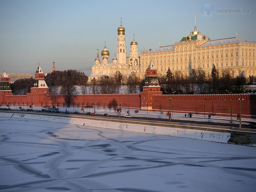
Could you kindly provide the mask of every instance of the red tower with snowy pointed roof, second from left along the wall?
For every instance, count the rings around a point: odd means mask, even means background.
[[[33,86],[30,88],[31,93],[45,93],[49,92],[49,88],[45,82],[44,72],[42,71],[39,63],[35,73],[35,81]]]

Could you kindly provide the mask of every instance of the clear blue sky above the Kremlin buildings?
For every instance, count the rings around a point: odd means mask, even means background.
[[[202,7],[212,12],[203,14]],[[45,73],[55,60],[57,70],[90,75],[104,41],[114,57],[120,17],[128,56],[133,34],[138,50],[155,49],[159,41],[173,45],[189,35],[195,9],[202,35],[228,38],[237,30],[238,38],[256,41],[255,1],[0,0],[0,73],[35,73],[38,63]]]

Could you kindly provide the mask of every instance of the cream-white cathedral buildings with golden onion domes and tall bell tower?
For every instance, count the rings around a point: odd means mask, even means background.
[[[89,81],[98,80],[101,77],[110,77],[111,75],[118,74],[129,76],[132,73],[140,72],[140,62],[138,57],[138,43],[134,40],[131,42],[130,57],[126,57],[126,45],[125,45],[125,28],[121,25],[117,29],[118,39],[116,46],[116,57],[110,62],[110,54],[106,48],[101,51],[101,58],[99,57],[99,49],[97,58],[92,66],[92,73],[89,76]]]

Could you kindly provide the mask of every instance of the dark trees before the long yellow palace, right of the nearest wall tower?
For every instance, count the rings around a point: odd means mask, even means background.
[[[234,78],[231,70],[220,73],[215,66],[209,77],[202,69],[193,70],[187,78],[179,71],[173,74],[168,69],[166,75],[158,76],[158,80],[163,94],[240,94],[247,88],[243,73]]]

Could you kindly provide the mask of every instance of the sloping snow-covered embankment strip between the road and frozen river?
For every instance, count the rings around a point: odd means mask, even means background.
[[[23,119],[34,119],[42,121],[52,121],[58,123],[68,123],[92,127],[101,127],[106,129],[117,129],[117,130],[126,130],[134,131],[141,133],[153,133],[158,135],[168,135],[175,137],[184,137],[205,141],[214,141],[227,143],[230,139],[231,133],[215,132],[215,131],[203,131],[203,130],[194,130],[194,129],[182,129],[174,127],[162,127],[154,125],[143,125],[143,124],[133,124],[133,123],[122,123],[122,122],[110,122],[110,121],[101,121],[94,119],[84,119],[76,117],[67,117],[67,116],[48,116],[48,115],[38,115],[38,114],[26,114],[26,113],[0,113],[0,116],[3,117],[12,117],[12,118],[23,118]]]

